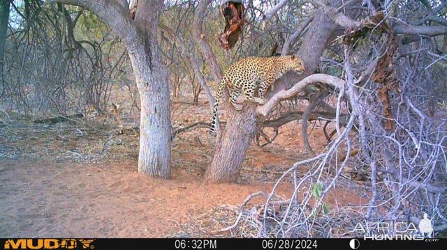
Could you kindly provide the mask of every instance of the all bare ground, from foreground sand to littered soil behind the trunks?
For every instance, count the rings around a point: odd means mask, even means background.
[[[173,124],[207,121],[204,99],[198,106],[175,102]],[[138,112],[122,107],[123,120],[135,121]],[[236,184],[203,183],[214,139],[200,129],[173,141],[173,179],[158,180],[136,171],[138,134],[117,134],[110,117],[94,119],[40,125],[17,116],[0,127],[0,237],[228,237],[216,231],[233,224],[237,214],[222,205],[269,193],[284,170],[309,157],[300,124],[293,122],[281,127],[274,143],[251,146]],[[323,150],[321,124],[310,130],[314,150]],[[278,194],[292,191],[286,183]],[[340,208],[367,201],[363,189],[349,182],[325,202]]]

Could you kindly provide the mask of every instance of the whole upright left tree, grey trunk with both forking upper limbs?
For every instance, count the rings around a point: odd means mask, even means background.
[[[134,21],[121,1],[56,1],[91,10],[124,42],[141,102],[138,172],[170,178],[170,95],[166,65],[161,62],[156,40],[163,1],[139,1]]]

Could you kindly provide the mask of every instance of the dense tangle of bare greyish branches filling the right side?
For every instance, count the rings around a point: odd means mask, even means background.
[[[421,2],[390,1],[383,11],[389,15],[388,20],[397,23],[420,25],[425,23],[420,19],[430,15],[445,20],[445,14],[433,14],[434,10],[430,13]],[[434,3],[433,9],[437,4],[444,5]],[[251,233],[255,237],[358,237],[362,236],[354,231],[358,222],[417,224],[417,218],[427,212],[435,232],[446,230],[445,36],[398,38],[400,46],[392,63],[386,65],[387,70],[394,68],[398,82],[397,88],[388,91],[395,123],[390,130],[379,92],[383,86],[374,81],[374,74],[365,72],[371,65],[379,70],[377,59],[390,48],[391,36],[372,31],[356,45],[335,45],[338,48],[334,51],[343,56],[334,64],[343,70],[340,77],[346,81],[344,89],[333,92],[338,96],[337,136],[323,152],[295,163],[277,180],[265,205],[257,210],[259,217],[242,208],[237,218],[239,226],[226,229],[240,236],[256,231]],[[344,102],[348,103],[349,118],[342,129],[339,114]],[[360,153],[352,154],[356,149]],[[307,166],[308,171],[299,172],[300,166]],[[366,170],[367,180],[362,185],[346,180],[353,178],[346,176],[352,166]],[[290,182],[294,192],[284,200],[286,205],[273,202],[277,187]],[[327,196],[335,189],[364,192],[367,202],[344,207],[328,205]]]

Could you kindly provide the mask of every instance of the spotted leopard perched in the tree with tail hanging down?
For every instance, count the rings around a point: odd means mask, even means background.
[[[228,88],[230,103],[233,104],[236,111],[242,109],[242,104],[237,103],[241,93],[244,93],[245,100],[263,105],[267,102],[267,99],[264,98],[265,93],[269,88],[274,90],[274,81],[291,70],[298,73],[305,71],[305,65],[299,56],[249,56],[230,65],[223,74],[217,90],[212,110],[210,134],[214,134],[216,130],[217,109],[223,88]],[[258,88],[258,97],[254,96],[256,88]]]

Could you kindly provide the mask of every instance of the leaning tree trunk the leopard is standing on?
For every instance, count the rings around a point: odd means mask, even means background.
[[[305,63],[306,71],[301,75],[288,74],[275,83],[275,92],[290,88],[291,82],[297,83],[307,75],[312,74],[320,62],[321,54],[328,44],[336,25],[323,11],[317,10],[309,32],[305,35],[298,56]],[[276,88],[276,86],[279,86]],[[234,182],[242,168],[250,142],[256,135],[256,104],[244,102],[242,111],[228,109],[228,120],[225,132],[222,132],[221,143],[214,150],[212,164],[205,173],[205,179],[210,182]]]

